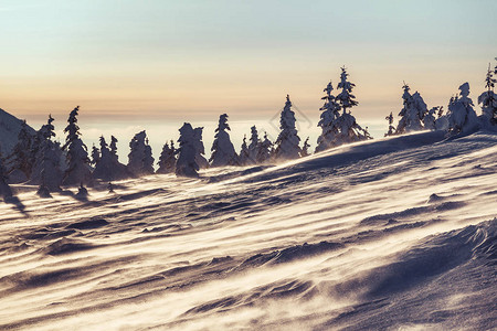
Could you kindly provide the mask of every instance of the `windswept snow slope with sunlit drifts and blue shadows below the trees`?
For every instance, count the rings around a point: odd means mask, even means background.
[[[84,199],[13,185],[0,329],[495,329],[497,136],[443,135]]]

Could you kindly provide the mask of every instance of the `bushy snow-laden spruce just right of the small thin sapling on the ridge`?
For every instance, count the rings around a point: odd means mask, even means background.
[[[402,86],[404,93],[402,94],[403,108],[399,113],[401,119],[396,127],[395,134],[403,135],[412,131],[419,131],[423,129],[423,117],[427,113],[426,104],[421,97],[419,92],[413,95],[410,94],[410,87],[408,84]]]

